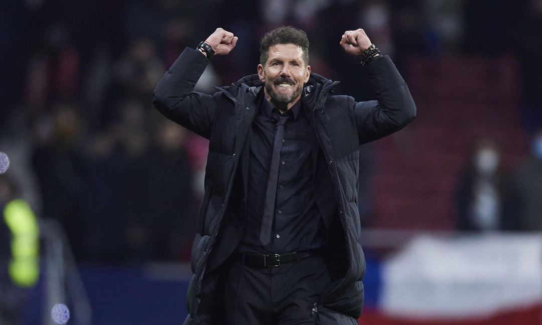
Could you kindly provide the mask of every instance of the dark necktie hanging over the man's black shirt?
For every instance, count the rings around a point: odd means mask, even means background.
[[[269,180],[267,181],[266,201],[263,205],[262,227],[260,229],[260,241],[266,246],[271,241],[271,228],[273,227],[273,216],[275,215],[276,186],[279,181],[279,160],[284,138],[284,124],[288,116],[273,113],[276,122],[275,139],[273,141],[273,154],[269,167]]]

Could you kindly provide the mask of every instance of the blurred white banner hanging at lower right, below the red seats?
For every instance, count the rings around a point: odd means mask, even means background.
[[[423,235],[384,263],[385,313],[484,316],[542,302],[542,234]]]

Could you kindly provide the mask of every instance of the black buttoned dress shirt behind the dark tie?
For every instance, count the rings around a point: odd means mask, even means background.
[[[276,127],[272,114],[278,110],[263,99],[263,95],[259,96],[257,109],[249,131],[246,228],[239,251],[281,254],[322,248],[321,216],[314,199],[315,155],[312,151],[316,139],[301,100],[286,113],[289,118],[280,154],[272,241],[265,247],[260,243]]]

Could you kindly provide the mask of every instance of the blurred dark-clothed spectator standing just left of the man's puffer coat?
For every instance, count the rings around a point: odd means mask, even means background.
[[[157,136],[145,158],[143,221],[156,260],[189,260],[195,230],[192,218],[192,172],[184,149],[186,131],[169,120],[157,126]]]

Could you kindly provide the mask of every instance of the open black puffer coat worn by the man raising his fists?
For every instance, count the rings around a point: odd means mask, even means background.
[[[187,298],[185,323],[193,324],[214,324],[220,319],[220,304],[214,298],[220,272],[213,271],[241,240],[242,218],[234,211],[242,206],[243,198],[232,195],[232,188],[234,183],[243,186],[247,177],[246,138],[256,111],[255,98],[263,86],[257,75],[252,75],[219,88],[214,95],[192,92],[207,63],[197,50],[185,49],[154,91],[154,105],[160,112],[210,140]],[[362,311],[365,272],[358,243],[358,149],[401,130],[416,116],[408,87],[388,56],[377,57],[364,69],[377,101],[356,102],[352,97],[333,95],[338,82],[315,73],[302,94],[321,149],[317,203],[332,234],[327,257],[334,281],[315,303],[356,318]]]

